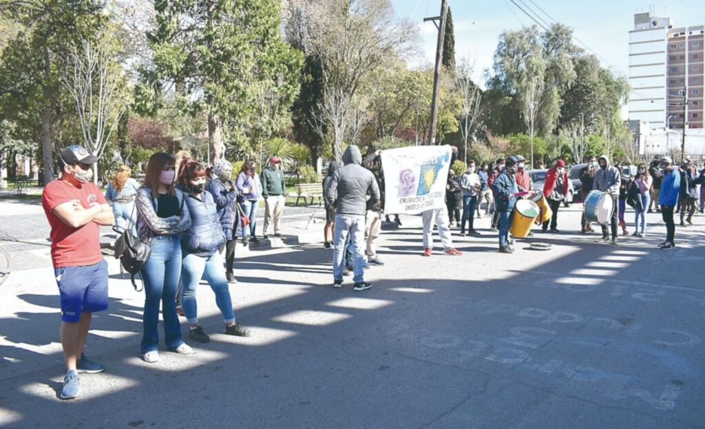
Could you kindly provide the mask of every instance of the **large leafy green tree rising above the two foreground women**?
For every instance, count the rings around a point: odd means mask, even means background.
[[[279,2],[155,0],[150,76],[204,111],[210,153],[223,156],[223,123],[261,138],[288,118],[302,58],[281,39]]]

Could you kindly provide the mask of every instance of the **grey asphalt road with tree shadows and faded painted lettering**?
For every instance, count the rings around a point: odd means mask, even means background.
[[[114,275],[87,347],[108,369],[82,375],[71,402],[56,397],[51,268],[21,273],[0,287],[0,426],[705,428],[705,217],[661,251],[661,224],[619,247],[568,232],[579,210],[512,255],[486,218],[482,237],[455,237],[460,257],[420,256],[418,228],[384,232],[386,265],[366,271],[365,292],[331,287],[321,247],[252,252],[231,287],[252,336],[216,333],[202,285],[212,342],[187,338],[194,354],[152,364],[139,356],[142,295]]]

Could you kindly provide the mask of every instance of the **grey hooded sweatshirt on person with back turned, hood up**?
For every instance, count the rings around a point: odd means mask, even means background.
[[[335,204],[336,214],[364,216],[367,195],[372,204],[379,201],[379,187],[372,171],[361,165],[362,154],[354,144],[345,149],[343,163],[345,166],[333,173],[325,191],[326,203]]]

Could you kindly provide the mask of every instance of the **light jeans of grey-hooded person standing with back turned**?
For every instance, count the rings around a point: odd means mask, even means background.
[[[362,243],[364,243],[364,215],[336,214],[336,229],[333,231],[333,279],[343,278],[343,263],[345,256],[345,242],[350,235],[348,249],[353,254],[353,274],[355,282],[362,282],[364,268],[362,263]]]

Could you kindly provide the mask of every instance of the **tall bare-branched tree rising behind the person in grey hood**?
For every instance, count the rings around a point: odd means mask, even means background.
[[[323,95],[312,125],[321,139],[331,135],[341,159],[367,121],[362,88],[372,71],[403,54],[416,27],[394,17],[389,0],[290,0],[287,37],[318,58]]]

